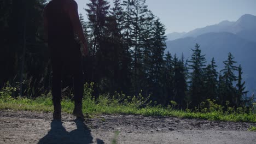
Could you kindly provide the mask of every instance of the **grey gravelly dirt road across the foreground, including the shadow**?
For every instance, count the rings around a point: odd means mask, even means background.
[[[84,122],[63,113],[0,110],[0,143],[256,143],[256,123],[100,115]]]

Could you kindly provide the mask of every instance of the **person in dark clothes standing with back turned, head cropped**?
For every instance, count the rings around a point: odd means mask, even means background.
[[[88,46],[79,20],[78,5],[74,0],[52,0],[43,11],[45,41],[50,49],[54,119],[61,119],[61,80],[65,74],[73,77],[73,115],[84,118],[82,112],[83,69],[80,45],[75,34],[82,41],[83,53],[88,55]]]

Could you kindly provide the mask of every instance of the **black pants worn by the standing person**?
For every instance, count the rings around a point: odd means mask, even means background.
[[[60,44],[60,43],[59,43]],[[82,102],[84,92],[82,56],[80,46],[76,43],[68,45],[49,45],[51,49],[51,65],[53,69],[52,89],[53,103],[60,103],[62,77],[69,75],[73,78],[74,98],[77,103]],[[57,49],[61,47],[62,49]]]

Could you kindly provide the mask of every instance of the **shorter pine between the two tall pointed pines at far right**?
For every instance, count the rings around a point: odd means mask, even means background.
[[[206,75],[205,75],[206,99],[216,100],[218,97],[218,94],[217,94],[218,72],[216,71],[216,67],[217,65],[215,65],[214,58],[212,58],[211,64],[208,64],[206,67]]]

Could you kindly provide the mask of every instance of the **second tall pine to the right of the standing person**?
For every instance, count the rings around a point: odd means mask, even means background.
[[[120,87],[123,92],[128,93],[129,89],[127,89],[127,87],[131,87],[131,53],[129,47],[126,45],[125,36],[123,34],[124,15],[125,11],[121,5],[121,1],[115,0],[114,7],[110,10],[109,31],[114,43],[118,44],[116,46],[119,67],[117,73],[117,87]]]

